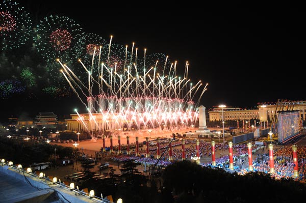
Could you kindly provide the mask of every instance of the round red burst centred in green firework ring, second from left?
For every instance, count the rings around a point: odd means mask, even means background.
[[[50,43],[57,51],[64,51],[70,47],[72,40],[71,34],[62,29],[53,31],[50,35]]]

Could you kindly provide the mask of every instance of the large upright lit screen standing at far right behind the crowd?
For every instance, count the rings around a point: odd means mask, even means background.
[[[284,142],[299,132],[299,111],[281,111],[278,113],[278,142]]]

